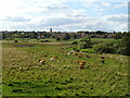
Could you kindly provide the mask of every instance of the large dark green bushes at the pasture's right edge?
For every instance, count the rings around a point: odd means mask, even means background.
[[[128,40],[128,39],[127,39]],[[122,42],[123,41],[123,42]],[[128,42],[128,41],[126,41]],[[93,47],[95,52],[105,52],[105,53],[118,53],[118,54],[126,54],[125,53],[125,39],[116,39],[116,40],[104,40],[104,42],[100,42],[98,45],[94,45]],[[126,51],[128,52],[128,50]]]

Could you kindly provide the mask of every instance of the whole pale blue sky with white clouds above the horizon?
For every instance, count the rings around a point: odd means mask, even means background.
[[[0,0],[0,30],[128,30],[128,0]]]

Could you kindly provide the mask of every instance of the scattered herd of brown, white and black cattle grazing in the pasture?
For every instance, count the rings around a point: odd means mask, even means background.
[[[86,54],[84,52],[77,52],[74,50],[72,50],[69,52],[65,52],[64,50],[62,50],[61,52],[63,53],[64,58],[68,58],[68,57],[70,58],[70,56],[78,57],[78,58],[80,58],[80,60],[84,57],[92,58],[92,56]],[[30,52],[30,54],[34,54],[34,52]],[[49,57],[50,53],[41,52],[40,54],[46,58],[46,57]],[[105,63],[104,56],[100,57],[100,59],[101,59],[101,63]],[[65,59],[65,60],[68,60],[68,59]],[[48,62],[55,62],[55,61],[64,61],[65,62],[65,60],[64,59],[60,60],[60,57],[54,56],[54,57],[49,57],[49,60],[38,60],[38,62],[39,62],[39,64],[47,64]],[[87,64],[87,61],[80,61],[80,60],[72,60],[72,62],[77,63],[78,64],[77,68],[83,70]],[[20,68],[20,70],[22,71],[23,69]]]

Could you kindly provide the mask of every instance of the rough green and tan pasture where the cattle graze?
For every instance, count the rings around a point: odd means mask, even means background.
[[[129,95],[128,57],[92,52],[68,56],[70,47],[62,42],[3,42],[2,95]],[[52,57],[56,57],[54,61],[50,60]],[[41,64],[39,60],[47,62]],[[78,68],[81,61],[87,62],[84,69]]]

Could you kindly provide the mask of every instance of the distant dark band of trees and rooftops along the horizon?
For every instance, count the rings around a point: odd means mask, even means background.
[[[76,33],[62,33],[62,32],[55,32],[55,33],[49,33],[49,32],[2,32],[2,38],[35,38],[35,39],[43,39],[43,38],[55,38],[56,40],[69,40],[69,39],[78,39],[81,38],[82,36],[90,35],[91,38],[116,38],[116,39],[121,39],[121,36],[126,34],[127,32],[102,32],[102,30],[96,30],[96,32],[83,32],[79,30]]]

